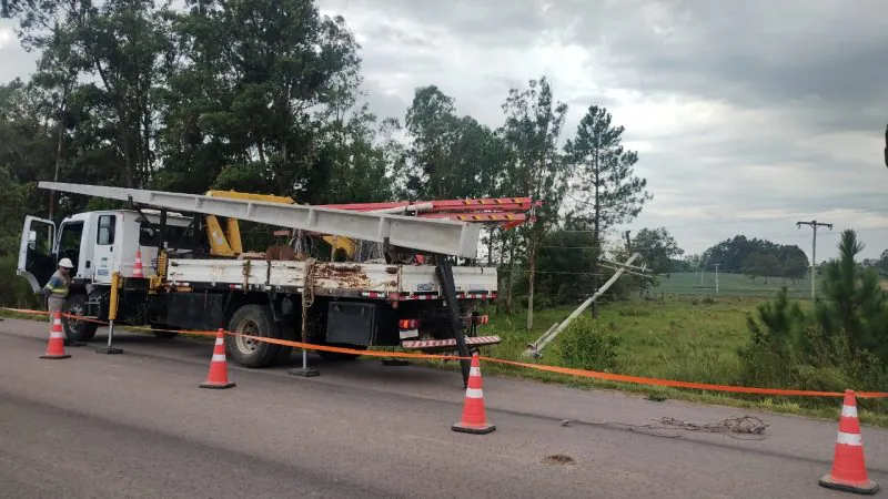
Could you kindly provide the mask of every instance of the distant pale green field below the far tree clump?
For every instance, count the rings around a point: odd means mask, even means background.
[[[659,285],[652,288],[653,294],[666,294],[677,296],[743,296],[743,297],[770,297],[780,286],[789,289],[789,296],[794,298],[807,298],[810,296],[810,278],[805,279],[784,279],[780,277],[756,277],[750,279],[741,274],[718,273],[718,292],[716,293],[715,272],[706,272],[700,276],[699,273],[687,272],[665,274],[658,276]]]

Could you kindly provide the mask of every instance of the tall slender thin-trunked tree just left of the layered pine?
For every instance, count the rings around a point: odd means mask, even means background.
[[[565,162],[558,152],[558,139],[567,114],[567,104],[553,101],[548,80],[543,77],[531,80],[524,90],[509,90],[503,111],[506,120],[501,133],[512,161],[509,179],[504,189],[534,200],[545,200],[537,212],[536,221],[517,233],[523,240],[527,261],[527,329],[531,329],[534,320],[537,252],[545,235],[558,223],[558,208],[566,187]],[[517,244],[511,246],[509,271],[514,265],[516,248]],[[511,283],[509,276],[509,287]],[[509,289],[507,307],[511,307],[511,298]]]

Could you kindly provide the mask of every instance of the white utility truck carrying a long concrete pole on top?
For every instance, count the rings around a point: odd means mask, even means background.
[[[54,182],[39,187],[129,203],[122,210],[78,213],[58,225],[24,220],[18,273],[34,293],[59,259],[74,263],[64,312],[82,319],[62,320],[71,340],[89,342],[98,328],[89,319],[95,319],[148,325],[168,338],[225,328],[357,350],[390,346],[464,357],[500,343],[497,336],[478,335],[486,324],[478,308],[496,297],[496,268],[453,262],[477,256],[477,224],[392,214],[391,207],[377,213]],[[291,244],[305,234],[377,243],[384,256],[369,262],[218,256],[208,249],[221,230],[216,217],[286,227],[293,231]],[[507,218],[514,224],[514,216]],[[225,348],[245,367],[280,363],[291,353],[291,347],[241,336],[226,336]],[[465,377],[468,364],[463,367]]]

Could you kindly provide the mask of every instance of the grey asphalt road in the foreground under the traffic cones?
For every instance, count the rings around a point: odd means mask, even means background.
[[[769,425],[753,441],[642,428],[749,413],[485,376],[497,429],[475,436],[451,430],[455,371],[230,366],[238,386],[208,390],[211,344],[121,335],[123,355],[68,347],[72,358],[44,360],[47,336],[42,322],[0,322],[0,498],[847,496],[817,485],[836,421],[753,413]],[[888,485],[888,431],[865,427],[864,442]]]

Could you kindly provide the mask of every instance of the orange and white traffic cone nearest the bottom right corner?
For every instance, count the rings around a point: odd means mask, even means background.
[[[879,485],[867,476],[864,440],[860,438],[860,421],[857,419],[857,400],[852,390],[845,390],[833,469],[820,479],[820,485],[857,493],[876,493],[879,490]]]

